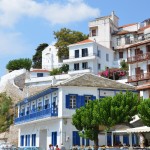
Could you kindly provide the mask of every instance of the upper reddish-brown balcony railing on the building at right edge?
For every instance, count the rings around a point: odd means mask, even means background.
[[[145,61],[145,60],[150,60],[150,52],[127,58],[127,62],[129,64],[132,64],[135,62],[141,62],[141,61]]]

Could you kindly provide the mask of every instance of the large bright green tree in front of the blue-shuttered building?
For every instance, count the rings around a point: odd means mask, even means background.
[[[72,124],[80,131],[80,136],[94,140],[97,146],[99,126],[105,126],[108,130],[117,124],[129,124],[137,114],[138,105],[137,94],[129,91],[90,101],[85,107],[76,110]],[[83,130],[84,133],[81,132]]]

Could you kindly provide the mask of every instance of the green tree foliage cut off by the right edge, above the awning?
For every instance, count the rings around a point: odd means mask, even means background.
[[[145,99],[140,103],[138,111],[142,122],[145,125],[150,126],[150,98]]]

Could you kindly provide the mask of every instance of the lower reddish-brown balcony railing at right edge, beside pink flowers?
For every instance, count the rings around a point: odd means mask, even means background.
[[[128,82],[136,82],[136,81],[149,80],[149,79],[150,79],[150,72],[128,76]]]

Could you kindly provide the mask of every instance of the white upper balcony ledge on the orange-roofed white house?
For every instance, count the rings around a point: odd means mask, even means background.
[[[75,56],[71,56],[69,57],[69,59],[65,59],[63,60],[63,63],[71,63],[71,62],[79,62],[79,61],[85,61],[85,60],[92,60],[95,59],[98,55],[93,53],[93,54],[88,54],[87,56],[79,56],[79,57],[75,57]]]

